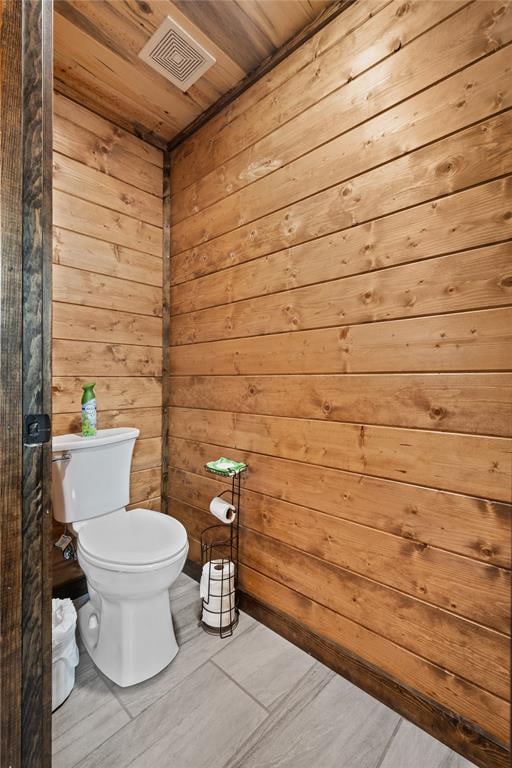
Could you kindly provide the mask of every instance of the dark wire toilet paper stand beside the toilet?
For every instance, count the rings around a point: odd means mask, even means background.
[[[211,472],[207,465],[205,465],[205,469],[207,472]],[[210,525],[201,533],[201,565],[204,568],[207,563],[210,563],[208,594],[202,598],[202,607],[210,615],[213,614],[215,616],[215,623],[218,621],[218,626],[211,626],[201,620],[201,626],[208,634],[218,635],[221,638],[232,636],[240,615],[238,607],[238,553],[241,475],[245,469],[232,473],[230,475],[231,486],[218,494],[220,497],[228,494],[230,503],[235,507],[236,514],[233,522]],[[214,560],[218,560],[220,563],[212,567],[212,561]],[[229,563],[233,563],[232,569],[230,569]],[[216,569],[216,572],[213,569]],[[218,578],[219,572],[220,578]],[[212,584],[215,584],[215,595],[211,592]],[[213,610],[214,601],[211,601],[212,597],[220,597],[220,610]],[[204,615],[204,610],[202,615]]]

